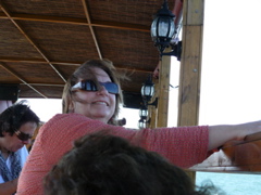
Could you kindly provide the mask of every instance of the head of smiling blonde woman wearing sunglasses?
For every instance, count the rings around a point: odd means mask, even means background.
[[[112,62],[91,60],[82,64],[69,78],[62,99],[63,113],[115,125],[122,90]]]

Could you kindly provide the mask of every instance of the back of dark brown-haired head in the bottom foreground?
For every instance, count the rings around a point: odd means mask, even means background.
[[[153,152],[114,135],[75,141],[45,178],[46,195],[207,195],[190,178]]]

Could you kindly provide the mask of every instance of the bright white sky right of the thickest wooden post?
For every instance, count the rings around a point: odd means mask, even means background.
[[[200,123],[261,119],[260,0],[207,0]]]

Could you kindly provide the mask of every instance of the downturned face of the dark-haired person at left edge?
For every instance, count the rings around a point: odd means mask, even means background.
[[[18,131],[21,133],[25,133],[33,136],[36,128],[37,123],[29,121],[22,125]],[[1,146],[4,147],[7,151],[16,152],[28,143],[30,143],[30,139],[22,141],[15,133],[13,135],[10,135],[9,132],[3,132]]]

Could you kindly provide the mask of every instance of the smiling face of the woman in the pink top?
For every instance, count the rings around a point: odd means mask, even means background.
[[[111,82],[110,77],[103,69],[91,69],[99,82]],[[77,90],[74,94],[74,113],[107,123],[115,112],[116,95],[109,93],[104,87],[101,87],[99,91]]]

